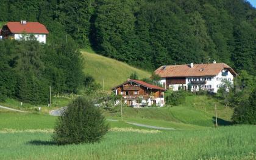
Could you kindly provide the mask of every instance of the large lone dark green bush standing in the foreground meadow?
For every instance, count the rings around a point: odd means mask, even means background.
[[[57,144],[97,142],[107,130],[105,118],[93,101],[78,97],[58,118],[52,139]]]

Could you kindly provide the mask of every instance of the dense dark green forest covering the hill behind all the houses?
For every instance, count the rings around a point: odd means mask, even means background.
[[[20,19],[45,24],[49,42],[68,35],[146,70],[216,60],[256,75],[256,9],[244,0],[2,0],[0,21]]]

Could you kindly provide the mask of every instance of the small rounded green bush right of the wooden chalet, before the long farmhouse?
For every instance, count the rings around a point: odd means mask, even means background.
[[[166,104],[179,105],[185,102],[185,98],[186,93],[184,90],[172,92],[168,96],[166,96]]]

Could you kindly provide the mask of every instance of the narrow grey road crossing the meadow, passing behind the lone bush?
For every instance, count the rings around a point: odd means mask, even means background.
[[[49,112],[50,115],[52,116],[60,116],[62,112],[64,111],[65,107],[59,108],[57,110],[51,110]],[[117,119],[107,119],[107,121],[118,121]],[[126,122],[126,121],[124,121]],[[153,126],[153,125],[146,125],[146,124],[139,124],[136,122],[126,122],[127,124],[132,124],[140,127],[146,127],[146,128],[151,128],[155,130],[175,130],[174,128],[167,128],[167,127],[158,127],[158,126]]]

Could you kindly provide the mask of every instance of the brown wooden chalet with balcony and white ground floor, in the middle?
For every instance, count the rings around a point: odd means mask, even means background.
[[[133,107],[157,105],[163,107],[165,104],[165,88],[148,84],[135,79],[127,79],[123,84],[112,88],[115,95],[122,95],[124,102]]]

